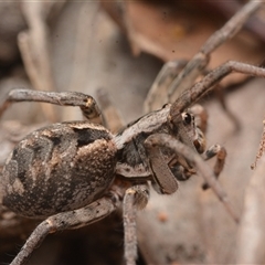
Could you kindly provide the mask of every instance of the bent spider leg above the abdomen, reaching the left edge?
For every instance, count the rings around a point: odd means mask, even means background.
[[[0,116],[18,102],[43,102],[60,106],[77,106],[89,120],[98,120],[100,110],[92,96],[77,92],[41,92],[32,89],[13,89],[0,105]]]

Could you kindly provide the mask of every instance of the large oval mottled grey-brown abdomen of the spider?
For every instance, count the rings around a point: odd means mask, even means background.
[[[114,179],[112,134],[87,121],[54,124],[30,134],[8,159],[0,186],[3,204],[29,218],[82,208]]]

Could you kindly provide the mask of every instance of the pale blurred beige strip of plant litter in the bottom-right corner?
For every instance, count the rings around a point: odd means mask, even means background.
[[[236,247],[236,264],[264,264],[265,252],[265,157],[251,178],[244,200]]]

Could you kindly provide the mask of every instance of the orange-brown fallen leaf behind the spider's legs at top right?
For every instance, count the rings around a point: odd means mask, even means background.
[[[118,13],[115,13],[113,2],[102,1],[104,9],[126,31],[136,55],[146,52],[165,62],[189,60],[199,51],[205,40],[227,20],[221,13],[216,14],[216,12],[211,11],[215,8],[213,4],[210,4],[211,9],[209,9],[209,4],[201,4],[201,2],[200,6],[195,4],[195,7],[183,4],[182,1],[155,3],[128,1],[119,7],[121,9],[119,17]],[[231,13],[229,17],[232,17],[237,6],[239,3],[229,10],[227,7],[224,7],[222,12],[226,10]],[[256,28],[262,24],[263,22],[256,18],[248,28],[255,28],[253,31],[256,31]],[[261,38],[256,35],[257,33],[254,34],[250,31],[237,34],[212,54],[209,67],[216,67],[231,59],[255,65],[261,64],[265,51]],[[245,80],[242,75],[232,75],[225,78],[222,84],[231,85],[242,80]]]

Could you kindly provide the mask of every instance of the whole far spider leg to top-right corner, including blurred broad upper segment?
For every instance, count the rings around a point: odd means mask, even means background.
[[[160,108],[169,102],[174,102],[179,95],[191,87],[198,76],[204,75],[210,55],[225,41],[232,39],[262,6],[262,1],[250,1],[239,10],[219,31],[214,32],[203,44],[200,51],[190,60],[172,61],[163,65],[155,80],[147,99],[145,113]],[[230,112],[226,112],[230,115]],[[232,115],[232,120],[234,117]],[[235,125],[236,124],[236,120]]]

